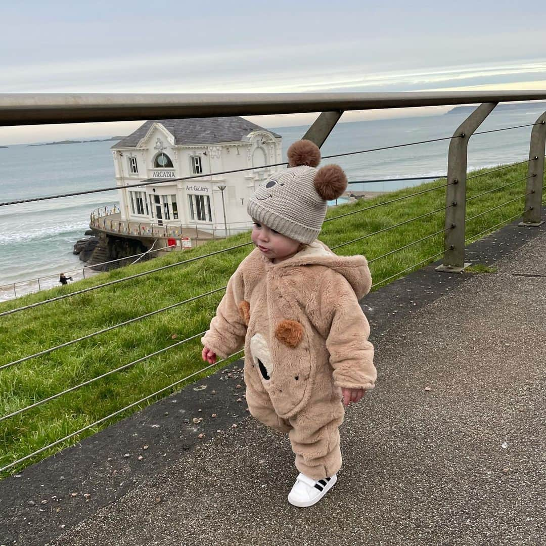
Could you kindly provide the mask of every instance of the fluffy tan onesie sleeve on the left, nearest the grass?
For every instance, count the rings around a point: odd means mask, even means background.
[[[246,323],[239,311],[244,299],[242,275],[235,271],[229,279],[224,297],[212,318],[209,330],[201,337],[204,346],[222,358],[239,351],[245,345]]]

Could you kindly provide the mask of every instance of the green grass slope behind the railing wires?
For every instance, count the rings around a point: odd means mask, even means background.
[[[468,183],[468,197],[521,179],[526,176],[526,169],[526,164],[517,165],[499,173],[471,180]],[[418,188],[403,189],[373,200],[340,205],[329,210],[328,218],[358,211],[371,205],[410,195],[421,189],[439,186],[445,182],[445,180],[430,182]],[[321,240],[329,246],[340,245],[405,219],[438,209],[445,204],[445,189],[329,221],[324,224]],[[467,217],[524,194],[525,181],[521,181],[500,191],[483,195],[468,202]],[[468,222],[469,242],[473,240],[474,235],[521,213],[524,203],[525,199],[522,197]],[[365,254],[369,260],[372,260],[442,229],[443,223],[444,213],[441,211],[340,247],[336,253]],[[236,235],[225,241],[212,241],[205,246],[183,253],[172,253],[164,258],[100,274],[66,287],[3,302],[0,304],[0,312],[155,269],[162,265],[175,264],[248,241],[250,236],[247,233]],[[243,246],[134,280],[0,317],[0,366],[76,337],[223,287],[241,259],[252,248],[252,245]],[[387,258],[374,261],[370,266],[373,281],[378,283],[395,275],[440,252],[442,248],[443,234],[440,234],[391,254]],[[218,292],[205,296],[75,345],[0,370],[0,416],[206,330],[222,295],[223,292]],[[204,367],[200,353],[199,339],[183,343],[170,351],[146,359],[56,400],[0,422],[0,467],[200,370]],[[190,381],[195,381],[198,377],[193,377]],[[182,386],[183,384],[179,384],[170,390],[178,390]],[[167,394],[169,391],[162,396]],[[45,450],[32,459],[11,468],[9,472],[21,470],[40,458],[72,445],[156,399],[157,397],[153,397],[116,416],[115,419],[110,419],[67,442],[58,444],[55,448]],[[7,475],[7,472],[4,472],[4,475]]]

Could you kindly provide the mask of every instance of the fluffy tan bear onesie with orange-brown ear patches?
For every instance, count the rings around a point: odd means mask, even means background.
[[[315,480],[341,467],[341,388],[375,384],[370,327],[358,302],[370,287],[364,256],[336,256],[321,241],[276,264],[255,248],[201,340],[222,358],[245,347],[251,414],[288,432],[296,468]]]

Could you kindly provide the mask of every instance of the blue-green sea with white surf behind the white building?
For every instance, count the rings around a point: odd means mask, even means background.
[[[500,107],[499,107],[500,108]],[[495,109],[477,132],[532,124],[544,103],[519,109]],[[322,146],[323,156],[440,139],[453,135],[468,111],[385,120],[337,123]],[[288,146],[307,127],[269,127]],[[532,127],[474,134],[468,144],[468,170],[529,158]],[[111,146],[115,141],[29,146],[0,149],[0,203],[115,186]],[[447,173],[449,140],[392,147],[323,160],[337,163],[357,191],[388,192],[424,180],[372,182],[379,179],[443,176]],[[78,280],[83,264],[73,254],[76,240],[89,228],[90,214],[118,204],[117,192],[104,191],[16,205],[0,205],[0,301],[58,286],[60,272]],[[91,276],[91,270],[85,276]],[[40,279],[38,283],[38,278]]]

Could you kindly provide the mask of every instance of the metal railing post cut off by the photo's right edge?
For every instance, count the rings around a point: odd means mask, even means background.
[[[544,183],[544,148],[546,145],[546,112],[538,117],[531,131],[527,193],[523,222],[518,225],[533,227],[544,223],[542,219],[542,185]]]

